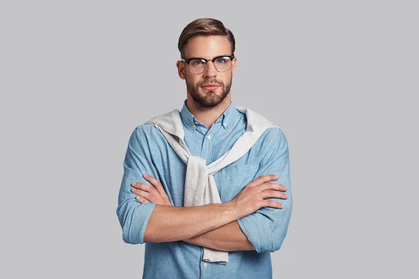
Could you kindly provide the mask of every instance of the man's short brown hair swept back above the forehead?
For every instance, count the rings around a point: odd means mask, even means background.
[[[179,49],[180,56],[183,58],[185,55],[185,46],[191,38],[198,36],[226,36],[230,41],[231,45],[231,54],[234,54],[235,51],[235,38],[230,29],[224,27],[223,22],[215,20],[214,18],[198,18],[198,20],[193,20],[193,22],[186,25],[182,33],[179,36],[179,42],[177,43],[177,48]]]

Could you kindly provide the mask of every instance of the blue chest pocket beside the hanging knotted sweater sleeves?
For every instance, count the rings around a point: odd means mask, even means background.
[[[259,163],[230,164],[221,169],[221,202],[228,202],[253,181],[258,172]]]

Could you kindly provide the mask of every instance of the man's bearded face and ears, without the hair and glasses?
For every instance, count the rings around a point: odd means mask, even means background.
[[[226,36],[198,36],[189,40],[185,47],[185,59],[213,59],[216,56],[231,55],[231,45]],[[177,63],[179,77],[186,81],[186,89],[199,107],[216,107],[230,93],[231,80],[235,74],[236,58],[230,70],[219,72],[212,61],[207,62],[203,73],[191,73],[189,65]],[[216,84],[216,86],[207,86]]]

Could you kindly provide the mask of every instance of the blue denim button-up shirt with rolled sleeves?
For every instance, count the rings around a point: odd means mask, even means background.
[[[180,111],[184,141],[193,156],[207,165],[226,153],[246,130],[246,114],[233,103],[208,129],[186,107]],[[166,138],[152,124],[135,128],[128,142],[124,176],[119,190],[117,216],[126,243],[145,243],[147,221],[156,204],[141,204],[131,192],[134,181],[147,183],[142,174],[161,182],[170,202],[183,206],[186,165],[172,150]],[[288,143],[280,128],[268,128],[256,144],[235,163],[214,174],[221,202],[234,199],[248,183],[261,175],[277,174],[288,191],[288,199],[272,199],[284,209],[263,207],[237,223],[256,250],[228,252],[228,264],[203,261],[203,248],[185,241],[145,243],[143,278],[272,278],[270,252],[279,250],[291,218]]]

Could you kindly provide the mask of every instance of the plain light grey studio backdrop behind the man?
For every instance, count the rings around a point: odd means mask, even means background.
[[[274,278],[418,278],[416,1],[91,0],[0,1],[0,277],[142,277],[122,163],[136,126],[182,108],[199,17],[235,35],[234,105],[288,139]]]

